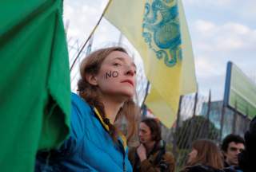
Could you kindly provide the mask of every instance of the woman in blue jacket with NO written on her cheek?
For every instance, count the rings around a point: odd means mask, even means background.
[[[38,153],[36,171],[132,171],[126,137],[135,132],[136,66],[121,47],[99,49],[80,65],[78,95],[72,93],[70,137],[55,151]]]

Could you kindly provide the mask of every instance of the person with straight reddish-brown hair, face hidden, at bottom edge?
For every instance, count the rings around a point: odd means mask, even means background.
[[[182,172],[218,172],[222,171],[222,154],[215,143],[199,139],[192,144],[186,167]]]

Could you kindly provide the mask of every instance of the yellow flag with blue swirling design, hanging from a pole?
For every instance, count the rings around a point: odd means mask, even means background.
[[[179,96],[196,91],[190,35],[178,0],[112,0],[105,17],[140,53],[150,93],[146,105],[171,127]]]

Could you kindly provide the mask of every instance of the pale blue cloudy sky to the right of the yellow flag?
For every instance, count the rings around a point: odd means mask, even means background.
[[[194,48],[199,92],[222,99],[226,62],[255,80],[254,0],[183,0]]]

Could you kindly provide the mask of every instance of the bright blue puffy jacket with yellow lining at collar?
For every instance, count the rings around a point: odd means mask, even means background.
[[[58,151],[39,154],[35,170],[130,172],[127,153],[126,141],[114,143],[97,109],[72,93],[70,137]]]

